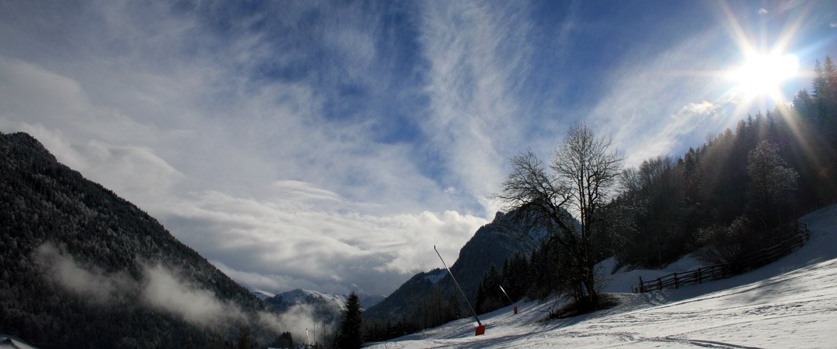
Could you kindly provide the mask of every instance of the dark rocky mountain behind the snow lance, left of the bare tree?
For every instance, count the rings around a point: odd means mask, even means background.
[[[517,251],[531,254],[532,249],[545,235],[540,231],[522,233],[521,228],[513,223],[509,215],[498,212],[491,223],[477,229],[474,236],[460,249],[459,258],[450,266],[450,271],[473,304],[480,280],[492,264],[501,268],[503,261],[511,258]],[[454,283],[447,270],[433,269],[413,275],[392,295],[368,308],[364,316],[377,321],[385,321],[388,317],[399,319],[401,316],[408,316],[418,311],[416,306],[421,304],[420,300],[429,295],[434,287],[440,287],[445,292],[453,290]]]

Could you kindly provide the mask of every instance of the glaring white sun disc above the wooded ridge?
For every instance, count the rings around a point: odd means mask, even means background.
[[[793,78],[799,69],[799,60],[793,54],[759,54],[748,52],[744,62],[730,72],[737,82],[737,90],[755,97],[767,95],[774,100],[781,97],[784,83]]]

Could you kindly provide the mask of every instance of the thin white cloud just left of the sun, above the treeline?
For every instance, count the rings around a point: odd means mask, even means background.
[[[732,118],[716,117],[716,110],[728,102],[716,92],[723,90],[725,80],[706,73],[727,68],[711,65],[717,60],[708,57],[724,35],[713,28],[663,52],[638,49],[635,59],[614,69],[612,88],[585,120],[598,132],[614,135],[626,166],[660,155],[680,156],[677,146],[699,145],[706,132],[732,125]]]

